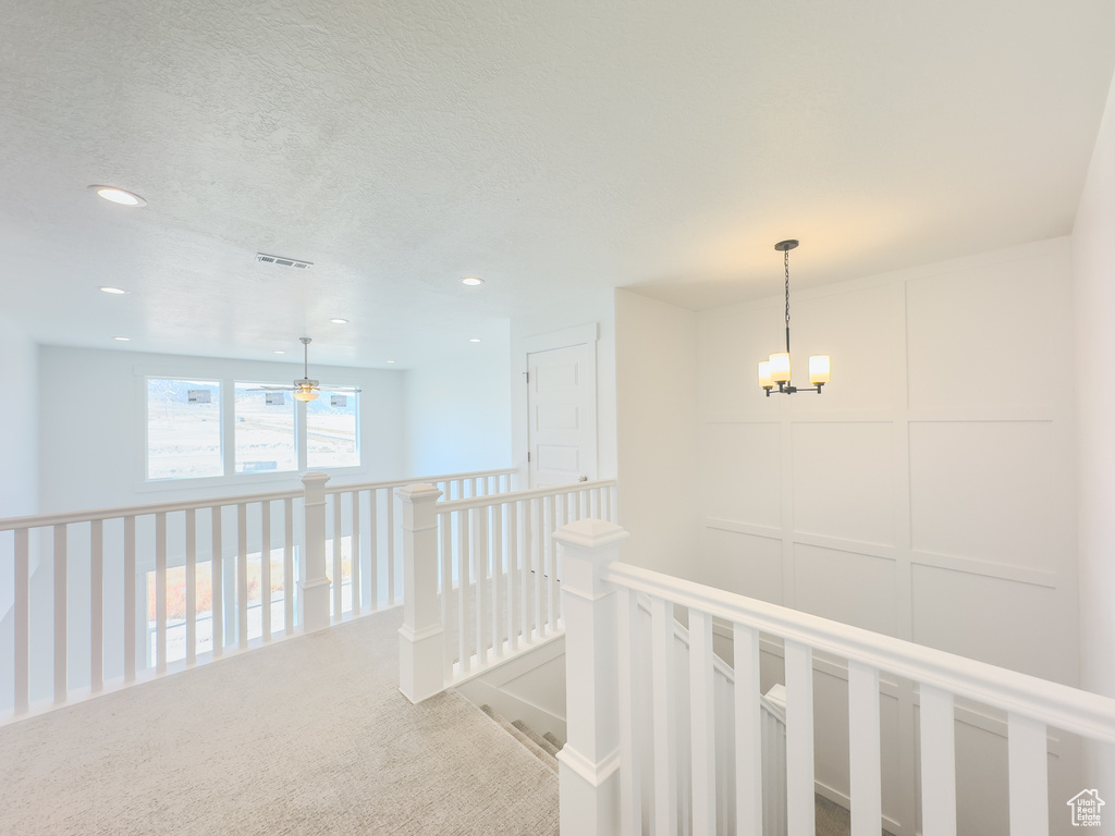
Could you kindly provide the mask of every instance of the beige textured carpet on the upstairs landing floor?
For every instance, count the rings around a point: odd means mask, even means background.
[[[558,777],[397,690],[401,610],[0,729],[0,833],[558,833]]]

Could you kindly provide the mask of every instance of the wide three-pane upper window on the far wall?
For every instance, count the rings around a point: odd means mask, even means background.
[[[272,381],[147,377],[147,482],[251,478],[360,466],[360,396],[323,387],[317,400]]]

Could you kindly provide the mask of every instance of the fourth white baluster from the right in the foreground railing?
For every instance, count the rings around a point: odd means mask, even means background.
[[[786,641],[786,832],[813,836],[813,650]]]

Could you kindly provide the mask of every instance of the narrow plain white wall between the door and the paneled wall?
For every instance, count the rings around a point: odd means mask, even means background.
[[[697,556],[697,314],[615,291],[622,558],[690,577]]]

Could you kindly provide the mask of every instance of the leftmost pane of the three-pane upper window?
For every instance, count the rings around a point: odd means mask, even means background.
[[[222,476],[221,385],[147,379],[147,478]]]

